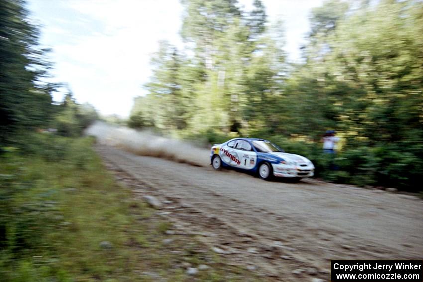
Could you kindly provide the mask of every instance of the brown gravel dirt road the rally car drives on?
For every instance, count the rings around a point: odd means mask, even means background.
[[[422,259],[423,201],[316,180],[266,182],[96,145],[136,196],[153,195],[175,231],[266,281],[328,281],[331,259]],[[321,280],[320,280],[321,279]]]

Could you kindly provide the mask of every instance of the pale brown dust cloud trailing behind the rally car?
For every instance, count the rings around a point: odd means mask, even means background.
[[[100,144],[110,145],[141,156],[165,158],[180,163],[206,167],[210,164],[210,151],[188,142],[137,131],[123,126],[95,122],[85,131],[95,136]]]

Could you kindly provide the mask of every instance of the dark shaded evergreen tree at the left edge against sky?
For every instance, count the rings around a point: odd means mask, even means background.
[[[22,1],[0,2],[0,146],[19,131],[45,126],[53,114],[54,86],[40,83],[51,64],[27,16]]]

